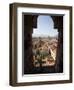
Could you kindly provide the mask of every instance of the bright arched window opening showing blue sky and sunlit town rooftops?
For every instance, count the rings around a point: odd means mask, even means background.
[[[37,28],[32,33],[34,67],[48,68],[55,66],[58,45],[58,30],[50,15],[39,15]],[[41,70],[41,69],[40,69]],[[46,72],[47,72],[46,70]]]

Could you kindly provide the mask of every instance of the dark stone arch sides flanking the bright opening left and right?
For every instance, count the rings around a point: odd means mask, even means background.
[[[24,15],[24,73],[33,73],[32,33],[37,28],[39,15]],[[55,72],[63,72],[63,16],[51,16],[54,28],[58,28],[58,50]],[[29,48],[28,48],[29,47]],[[26,63],[26,64],[25,64]],[[25,69],[28,67],[27,69]]]

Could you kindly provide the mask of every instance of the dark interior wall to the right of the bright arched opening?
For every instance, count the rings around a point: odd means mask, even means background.
[[[58,29],[58,49],[55,72],[63,72],[63,16],[52,16],[54,28]]]

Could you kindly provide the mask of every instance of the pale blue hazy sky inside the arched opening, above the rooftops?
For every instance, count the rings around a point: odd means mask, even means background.
[[[40,15],[37,19],[37,28],[33,29],[33,37],[39,36],[56,36],[58,35],[57,29],[54,29],[54,23],[50,16]]]

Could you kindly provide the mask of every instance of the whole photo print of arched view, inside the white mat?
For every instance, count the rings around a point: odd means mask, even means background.
[[[63,16],[23,14],[23,73],[63,72]]]

